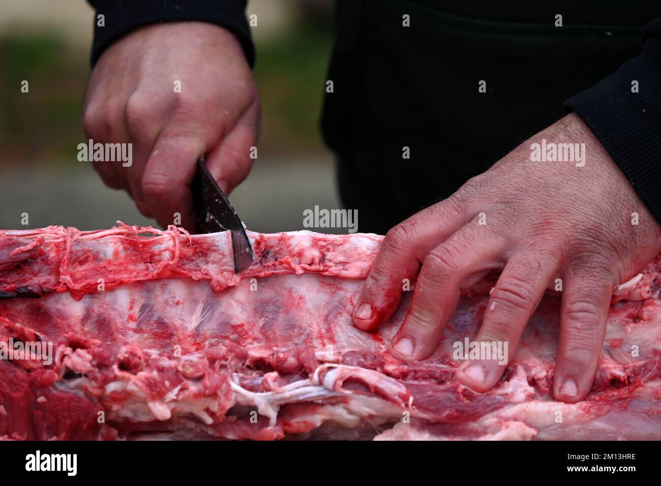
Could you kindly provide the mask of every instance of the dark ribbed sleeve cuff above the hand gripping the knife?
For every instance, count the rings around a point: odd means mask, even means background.
[[[104,50],[124,34],[135,28],[159,22],[198,20],[231,30],[241,42],[243,52],[254,64],[254,46],[245,18],[247,0],[89,0],[97,14],[94,20],[92,65]],[[105,26],[97,25],[103,14]]]

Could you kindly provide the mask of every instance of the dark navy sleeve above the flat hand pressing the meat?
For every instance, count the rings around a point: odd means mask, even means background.
[[[564,106],[592,130],[661,223],[661,19],[642,36],[639,56]]]

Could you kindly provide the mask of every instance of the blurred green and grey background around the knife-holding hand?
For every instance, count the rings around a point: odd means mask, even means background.
[[[231,200],[256,231],[302,228],[305,208],[336,208],[332,156],[319,133],[332,46],[332,1],[251,0],[262,97],[253,172]],[[84,0],[2,0],[0,12],[0,228],[81,229],[116,220],[153,223],[87,163],[81,106],[94,13]],[[29,93],[20,92],[28,80]],[[345,230],[346,231],[346,230]]]

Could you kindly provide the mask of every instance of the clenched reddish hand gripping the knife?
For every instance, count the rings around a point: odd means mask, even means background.
[[[180,92],[175,91],[180,81]],[[133,143],[130,167],[95,162],[104,182],[126,189],[163,226],[194,228],[189,184],[200,155],[225,192],[251,169],[259,97],[241,45],[204,22],[140,28],[115,42],[92,71],[83,111],[95,143]]]

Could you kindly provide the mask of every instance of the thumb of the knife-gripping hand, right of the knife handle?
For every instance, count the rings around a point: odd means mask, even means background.
[[[252,148],[259,134],[259,103],[255,101],[236,126],[206,156],[209,172],[225,194],[248,176],[253,165]]]

